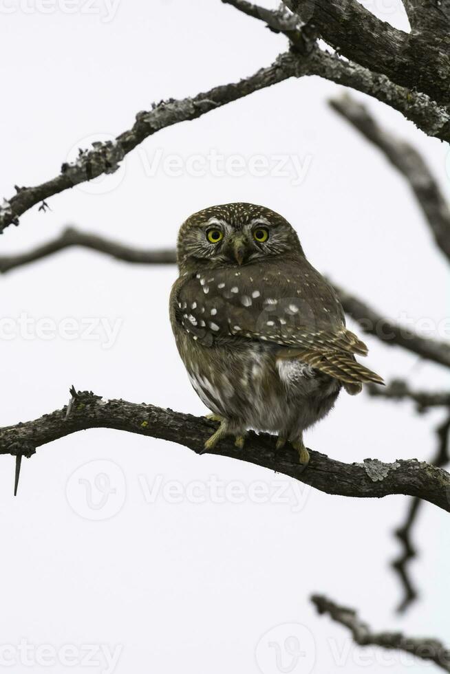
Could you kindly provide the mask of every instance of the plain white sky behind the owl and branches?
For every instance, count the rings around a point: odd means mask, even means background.
[[[12,196],[14,184],[39,184],[57,175],[73,146],[125,131],[152,101],[238,80],[286,48],[282,36],[218,0],[121,0],[114,16],[101,0],[93,6],[80,1],[70,14],[48,0],[14,1],[5,0],[1,12],[5,197]],[[385,0],[369,8],[407,28],[400,6]],[[312,263],[383,314],[431,318],[438,325],[447,312],[444,259],[403,179],[329,109],[328,98],[339,94],[339,87],[317,78],[289,80],[160,131],[116,175],[100,180],[96,193],[80,186],[49,199],[52,210],[45,214],[33,208],[19,228],[1,237],[0,254],[28,250],[67,224],[144,248],[172,247],[193,211],[255,202],[282,213],[297,228]],[[356,95],[425,153],[449,194],[447,146],[399,113]],[[292,175],[146,173],[158,150],[186,160],[211,149],[247,159],[288,153],[301,161],[310,157],[310,164],[297,186]],[[101,339],[17,334],[0,340],[0,424],[63,406],[70,384],[105,398],[205,413],[171,336],[167,301],[175,276],[171,266],[133,266],[70,250],[1,277],[3,318],[17,320],[25,312],[56,323],[67,317],[121,323],[109,349]],[[446,384],[438,366],[369,337],[367,343],[370,367],[387,380],[398,376],[429,388]],[[343,394],[306,439],[343,461],[427,459],[441,419],[440,411],[419,417],[410,404]],[[93,460],[102,463],[85,465]],[[15,658],[9,671],[107,671],[103,660],[87,668],[81,656],[72,667],[57,659],[45,665],[35,650],[26,666],[17,651],[21,639],[56,651],[74,644],[79,653],[85,644],[118,647],[118,674],[397,673],[407,665],[411,673],[432,671],[433,665],[405,664],[396,653],[383,660],[380,651],[352,646],[343,628],[316,615],[308,600],[312,592],[357,607],[375,628],[450,644],[448,516],[431,505],[423,508],[415,532],[422,554],[412,569],[421,599],[397,620],[400,587],[388,563],[398,552],[392,530],[403,520],[406,497],[331,497],[256,466],[101,429],[61,439],[24,460],[16,499],[12,457],[2,457],[1,468],[0,645],[9,644],[8,655],[1,653]],[[116,489],[106,493],[105,508],[105,483],[98,483],[100,491],[94,483],[98,472]],[[207,484],[211,476],[222,485],[239,481],[246,491],[237,499],[242,502],[233,502],[230,492],[215,502]],[[175,499],[180,503],[168,496],[170,481],[182,491]],[[200,481],[202,503],[192,502],[192,481]],[[261,481],[272,495],[256,503],[252,489]],[[289,503],[274,497],[279,483]],[[143,484],[155,486],[153,497]],[[278,625],[284,627],[257,647]],[[296,629],[306,653],[299,662],[286,650],[292,643],[286,638],[295,638]],[[277,648],[284,658],[279,665]],[[3,667],[8,670],[4,657]]]

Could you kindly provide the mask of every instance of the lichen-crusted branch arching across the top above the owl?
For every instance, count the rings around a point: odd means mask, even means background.
[[[91,150],[81,150],[76,162],[63,164],[61,173],[52,180],[33,187],[16,186],[17,194],[3,199],[0,206],[0,233],[11,224],[19,224],[23,213],[45,199],[99,175],[114,173],[125,156],[153,133],[179,122],[195,120],[206,112],[290,77],[306,75],[317,75],[363,91],[402,112],[428,135],[450,140],[450,112],[428,96],[398,87],[386,77],[318,48],[308,55],[298,51],[281,54],[271,66],[261,68],[238,83],[215,87],[193,98],[162,101],[151,111],[138,113],[133,127],[118,135],[116,140],[96,142]]]

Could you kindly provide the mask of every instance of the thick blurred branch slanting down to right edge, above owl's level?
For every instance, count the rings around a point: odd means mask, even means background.
[[[412,191],[440,250],[450,260],[450,208],[427,164],[404,140],[382,129],[367,108],[351,96],[330,100],[331,107],[385,154],[402,173]]]

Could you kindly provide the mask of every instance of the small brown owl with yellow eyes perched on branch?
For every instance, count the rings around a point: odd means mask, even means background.
[[[356,362],[367,347],[345,327],[336,292],[310,265],[294,228],[264,206],[225,204],[194,213],[180,228],[180,275],[170,298],[178,351],[219,428],[244,446],[248,429],[290,442],[307,466],[303,431],[334,406],[339,391],[382,384]]]

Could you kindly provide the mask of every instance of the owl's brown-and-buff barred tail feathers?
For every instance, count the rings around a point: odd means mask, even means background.
[[[357,362],[354,356],[342,354],[336,351],[299,351],[297,358],[307,362],[321,372],[325,372],[343,383],[345,390],[350,395],[356,395],[362,389],[362,384],[373,382],[384,384],[383,379],[369,370],[368,367]]]

